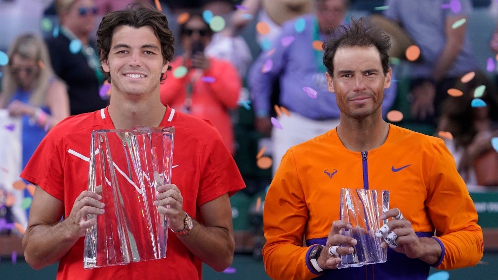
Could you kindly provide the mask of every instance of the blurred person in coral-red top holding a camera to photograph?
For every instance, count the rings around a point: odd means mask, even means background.
[[[180,43],[184,54],[172,62],[173,77],[160,86],[161,102],[190,115],[210,120],[220,132],[223,142],[235,154],[230,110],[239,100],[242,81],[229,61],[207,57],[204,48],[213,31],[200,13],[190,14],[180,25]]]

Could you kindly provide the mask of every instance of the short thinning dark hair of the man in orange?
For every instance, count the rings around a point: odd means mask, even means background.
[[[385,34],[378,26],[368,22],[364,17],[358,20],[351,18],[349,25],[341,25],[332,32],[332,35],[323,43],[323,64],[327,73],[334,76],[334,56],[337,49],[343,47],[375,47],[380,54],[382,72],[389,71],[389,55],[391,47],[389,35]]]

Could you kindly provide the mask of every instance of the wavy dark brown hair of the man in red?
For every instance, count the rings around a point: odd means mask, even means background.
[[[129,4],[123,10],[112,11],[106,13],[97,30],[97,50],[100,56],[100,61],[109,58],[111,50],[111,42],[113,33],[116,27],[127,25],[133,28],[140,28],[143,26],[150,26],[154,30],[154,34],[161,43],[161,54],[165,61],[172,61],[175,52],[173,32],[168,28],[168,20],[166,16],[157,11],[153,6],[137,2]],[[104,76],[111,83],[111,76],[100,67]],[[168,71],[171,70],[168,66]],[[165,79],[166,75],[161,75],[161,81]]]

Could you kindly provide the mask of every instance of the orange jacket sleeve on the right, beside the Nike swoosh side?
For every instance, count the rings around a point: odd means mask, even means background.
[[[434,237],[442,245],[437,269],[475,266],[483,257],[483,231],[467,186],[455,161],[439,139],[434,147],[426,208],[436,228]]]

